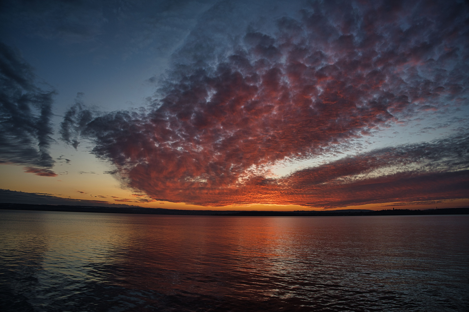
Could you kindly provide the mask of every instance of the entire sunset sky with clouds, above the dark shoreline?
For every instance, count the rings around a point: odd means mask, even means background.
[[[466,1],[4,0],[0,197],[467,207],[468,48]]]

